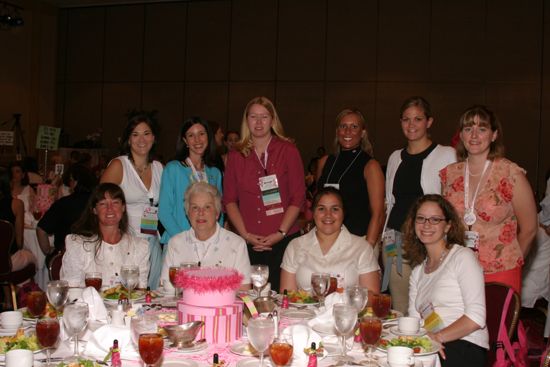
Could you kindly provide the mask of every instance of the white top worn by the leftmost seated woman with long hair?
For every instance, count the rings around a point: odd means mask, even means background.
[[[95,241],[69,234],[65,237],[65,248],[60,278],[71,287],[84,287],[84,275],[88,272],[100,272],[103,287],[114,286],[120,282],[122,265],[138,265],[139,287],[147,287],[149,242],[144,238],[126,234],[117,244],[102,241],[96,255]]]

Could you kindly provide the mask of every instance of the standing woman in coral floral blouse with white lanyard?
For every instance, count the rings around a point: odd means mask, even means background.
[[[466,226],[466,243],[478,252],[485,282],[521,294],[521,267],[537,231],[537,213],[525,171],[504,158],[502,127],[485,106],[460,118],[457,163],[440,172],[442,193]]]

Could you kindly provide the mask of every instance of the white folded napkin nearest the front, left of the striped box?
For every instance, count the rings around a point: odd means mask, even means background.
[[[84,354],[96,359],[103,359],[118,340],[120,357],[122,359],[139,359],[139,353],[132,343],[131,331],[126,326],[104,325],[93,332],[86,344]]]

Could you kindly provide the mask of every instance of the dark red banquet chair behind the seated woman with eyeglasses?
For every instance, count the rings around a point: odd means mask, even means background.
[[[486,324],[489,332],[489,352],[487,354],[486,366],[492,366],[496,359],[496,342],[498,339],[498,329],[500,327],[500,319],[506,296],[508,295],[509,286],[502,283],[485,283],[485,307],[486,307]],[[517,292],[510,302],[508,312],[506,314],[505,325],[508,333],[508,338],[512,340],[519,319],[519,311],[521,308],[520,298]]]

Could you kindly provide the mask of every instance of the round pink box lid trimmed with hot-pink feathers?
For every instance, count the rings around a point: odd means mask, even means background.
[[[237,290],[244,276],[235,269],[200,268],[179,270],[176,275],[176,285],[184,289],[192,289],[197,293],[212,291],[224,292]]]

